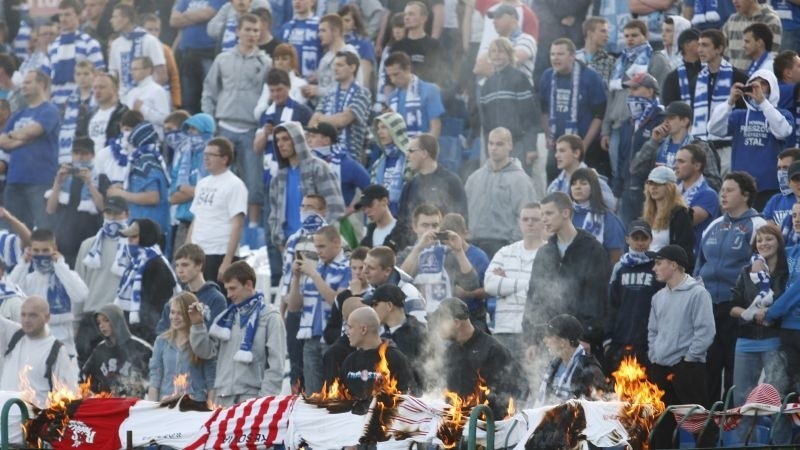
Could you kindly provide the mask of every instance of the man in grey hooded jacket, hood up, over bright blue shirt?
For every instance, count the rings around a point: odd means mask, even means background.
[[[279,133],[288,133],[292,149],[281,151],[277,140]],[[306,195],[317,194],[325,198],[328,205],[329,223],[344,215],[344,199],[339,180],[328,163],[313,156],[306,143],[303,127],[298,122],[284,122],[272,132],[276,142],[275,159],[278,172],[270,181],[269,229],[272,242],[282,245],[288,236],[300,229],[300,204]],[[295,158],[296,156],[296,158]],[[291,160],[295,159],[294,164]]]

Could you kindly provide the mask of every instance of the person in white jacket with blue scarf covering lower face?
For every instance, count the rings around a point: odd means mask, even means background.
[[[16,283],[28,296],[47,299],[50,333],[64,344],[68,355],[75,355],[72,304],[86,301],[89,288],[58,253],[52,231],[39,228],[31,233],[31,246],[26,249],[24,262],[17,264],[9,281]]]

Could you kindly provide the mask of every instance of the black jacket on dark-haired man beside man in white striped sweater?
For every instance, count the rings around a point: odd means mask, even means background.
[[[553,235],[533,260],[522,322],[531,344],[542,342],[542,325],[559,314],[580,320],[586,341],[599,345],[603,340],[611,262],[594,236],[577,231],[563,258]]]

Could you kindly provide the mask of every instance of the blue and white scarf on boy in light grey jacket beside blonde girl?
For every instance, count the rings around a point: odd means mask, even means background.
[[[211,325],[208,334],[221,341],[227,342],[231,338],[233,321],[238,314],[239,328],[244,329],[244,333],[242,333],[242,343],[239,345],[239,350],[233,355],[233,360],[249,364],[253,362],[253,341],[256,337],[258,318],[265,307],[264,294],[261,292],[256,292],[255,295],[238,305],[231,303],[228,309],[226,309],[225,312],[214,321],[214,324]]]

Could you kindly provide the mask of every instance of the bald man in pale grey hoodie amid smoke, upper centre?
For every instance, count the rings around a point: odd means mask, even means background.
[[[491,259],[500,248],[522,239],[517,217],[522,205],[536,200],[524,162],[511,157],[514,143],[507,128],[489,133],[489,158],[467,178],[471,242]]]

